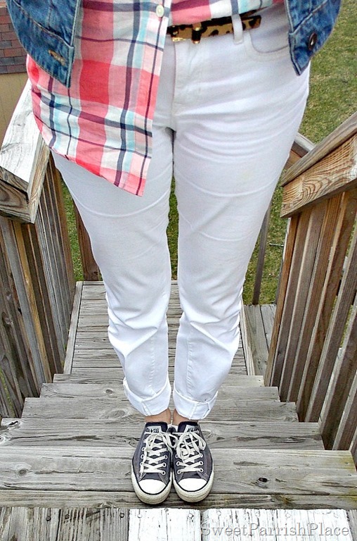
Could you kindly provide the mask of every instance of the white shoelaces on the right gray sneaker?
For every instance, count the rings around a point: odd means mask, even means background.
[[[202,453],[206,447],[206,442],[195,432],[184,432],[178,437],[176,442],[176,453],[178,458],[178,466],[182,466],[177,473],[186,473],[188,471],[198,472],[203,471],[200,466],[203,466]]]

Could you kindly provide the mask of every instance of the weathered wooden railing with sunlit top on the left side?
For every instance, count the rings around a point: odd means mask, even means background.
[[[62,371],[74,274],[60,178],[34,123],[29,89],[0,153],[0,415]]]

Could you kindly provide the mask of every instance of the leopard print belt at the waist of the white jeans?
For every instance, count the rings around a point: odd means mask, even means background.
[[[240,15],[243,30],[258,28],[261,23],[261,15],[256,15],[258,10],[247,11]],[[173,42],[181,42],[183,39],[190,39],[193,43],[200,43],[202,37],[222,36],[233,34],[233,22],[231,17],[204,20],[194,25],[172,25],[167,28],[167,34]]]

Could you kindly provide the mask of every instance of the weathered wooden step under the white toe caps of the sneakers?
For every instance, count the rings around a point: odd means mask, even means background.
[[[357,473],[348,451],[213,449],[212,454],[215,478],[207,506],[225,506],[226,496],[236,495],[300,496],[307,506],[311,496],[344,496],[356,506]],[[117,492],[125,502],[133,492],[131,456],[125,447],[1,447],[1,502],[3,490],[11,489]],[[165,506],[170,503],[171,495]]]

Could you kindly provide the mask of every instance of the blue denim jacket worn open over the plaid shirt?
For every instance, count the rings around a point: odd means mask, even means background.
[[[74,35],[82,0],[7,0],[22,46],[46,72],[70,86]],[[164,6],[169,8],[169,0]],[[335,25],[341,0],[285,0],[290,55],[300,74]],[[157,8],[151,0],[148,9]]]

